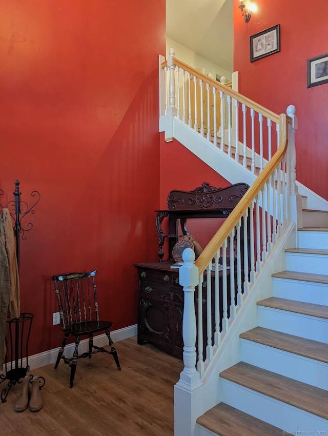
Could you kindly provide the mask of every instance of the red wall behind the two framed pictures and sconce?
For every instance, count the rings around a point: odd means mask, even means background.
[[[244,2],[247,4],[247,2]],[[328,200],[328,84],[306,88],[306,61],[328,52],[328,3],[256,0],[245,24],[234,0],[234,71],[239,92],[276,113],[296,107],[297,180]],[[250,63],[250,36],[280,24],[281,51]]]

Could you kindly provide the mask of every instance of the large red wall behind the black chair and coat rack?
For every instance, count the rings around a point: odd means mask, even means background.
[[[3,0],[0,188],[42,196],[21,243],[29,354],[59,346],[52,274],[98,269],[100,315],[137,322],[133,263],[156,260],[165,0]],[[147,241],[147,243],[145,243]]]

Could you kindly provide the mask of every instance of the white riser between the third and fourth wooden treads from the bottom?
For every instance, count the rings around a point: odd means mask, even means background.
[[[264,306],[257,307],[257,314],[259,327],[328,343],[328,320]]]

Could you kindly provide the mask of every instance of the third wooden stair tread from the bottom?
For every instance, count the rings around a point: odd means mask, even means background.
[[[239,337],[328,364],[328,344],[322,342],[299,338],[293,334],[281,333],[263,327],[255,327],[245,331]]]

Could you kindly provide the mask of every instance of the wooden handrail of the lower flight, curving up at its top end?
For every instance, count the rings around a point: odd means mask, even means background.
[[[262,172],[258,175],[256,181],[246,191],[246,193],[243,195],[242,199],[239,201],[237,206],[233,209],[233,211],[228,216],[226,221],[224,221],[224,223],[218,229],[215,235],[212,237],[211,241],[208,243],[206,248],[204,248],[202,253],[199,255],[198,259],[195,262],[195,265],[198,267],[199,277],[203,274],[204,270],[206,270],[208,265],[212,262],[213,257],[215,256],[219,248],[222,246],[223,242],[226,241],[227,237],[231,234],[231,232],[237,225],[240,218],[243,216],[245,211],[247,211],[249,206],[252,204],[256,195],[262,189],[265,182],[267,182],[270,175],[277,168],[278,164],[281,162],[283,156],[286,153],[286,149],[288,145],[287,123],[291,123],[292,120],[289,116],[287,116],[284,113],[277,116],[280,126],[279,147],[275,152],[275,154],[272,156],[268,165],[264,167]]]

